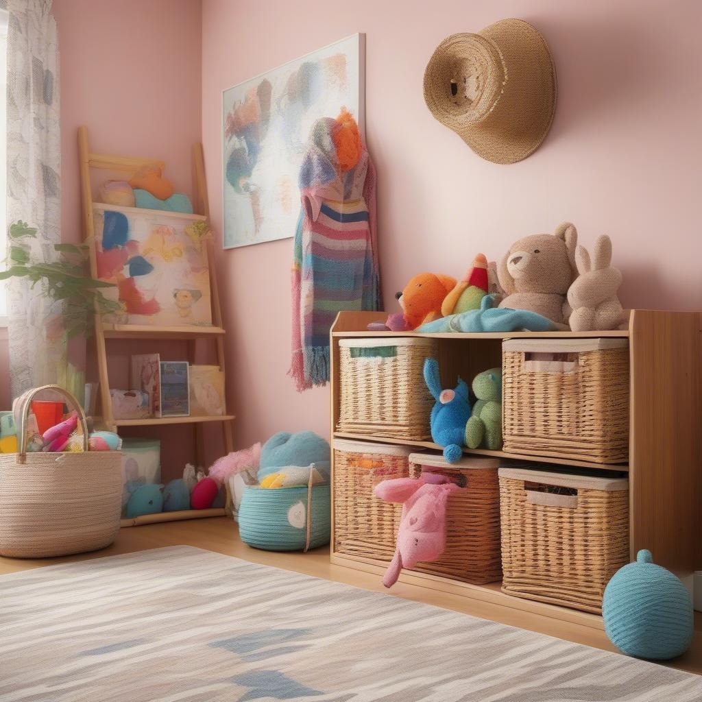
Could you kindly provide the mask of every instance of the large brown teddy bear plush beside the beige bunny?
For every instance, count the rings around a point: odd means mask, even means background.
[[[506,297],[500,307],[531,310],[567,329],[571,307],[566,295],[577,277],[578,232],[564,222],[553,234],[515,241],[505,254],[498,277]]]

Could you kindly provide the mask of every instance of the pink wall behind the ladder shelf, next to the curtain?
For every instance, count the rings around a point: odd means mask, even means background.
[[[192,192],[190,149],[201,135],[201,8],[199,0],[54,0],[53,11],[61,52],[63,238],[78,241],[76,133],[83,124],[95,152],[162,159],[176,190]],[[132,352],[156,350],[164,359],[187,352],[185,343],[108,343],[116,388],[128,387]],[[88,373],[97,376],[92,358]],[[159,436],[166,477],[175,477],[193,458],[191,428],[140,428],[124,435]]]

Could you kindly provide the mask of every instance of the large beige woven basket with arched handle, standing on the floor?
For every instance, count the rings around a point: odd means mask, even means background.
[[[53,390],[78,412],[83,453],[25,453],[27,416],[34,394]],[[119,531],[121,453],[88,451],[86,418],[58,385],[22,396],[19,453],[0,453],[0,555],[42,558],[110,545]]]

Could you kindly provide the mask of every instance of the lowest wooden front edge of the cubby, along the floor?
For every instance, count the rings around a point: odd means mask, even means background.
[[[331,552],[331,563],[345,568],[364,571],[366,573],[382,576],[388,564],[382,561],[373,561],[359,556],[351,556],[338,552]],[[519,611],[529,612],[530,614],[538,614],[546,616],[558,621],[566,621],[569,623],[586,626],[598,631],[604,630],[602,616],[598,614],[590,614],[589,612],[578,611],[577,609],[569,609],[568,607],[558,607],[555,604],[546,604],[545,602],[536,602],[536,600],[523,600],[521,597],[507,595],[500,589],[500,583],[489,583],[488,585],[471,585],[451,578],[442,578],[429,573],[420,573],[418,571],[405,571],[400,573],[399,581],[407,585],[418,585],[422,588],[438,590],[451,595],[460,595],[468,597],[472,600],[488,602],[509,609],[517,609]]]

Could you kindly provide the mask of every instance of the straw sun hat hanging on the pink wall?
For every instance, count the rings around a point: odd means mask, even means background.
[[[544,140],[555,112],[548,45],[523,20],[452,34],[426,67],[424,100],[478,156],[496,164],[521,161]]]

